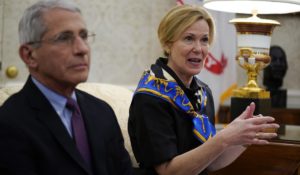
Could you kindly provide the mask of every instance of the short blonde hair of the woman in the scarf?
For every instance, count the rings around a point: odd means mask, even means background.
[[[212,16],[200,6],[180,5],[172,8],[161,20],[157,33],[165,56],[169,56],[167,45],[178,40],[179,36],[198,20],[205,20],[209,26],[209,41],[215,36],[215,24]]]

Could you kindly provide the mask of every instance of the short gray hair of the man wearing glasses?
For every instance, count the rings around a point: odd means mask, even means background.
[[[28,7],[19,22],[20,44],[40,41],[47,31],[43,14],[51,9],[60,8],[81,13],[71,0],[41,0]],[[38,47],[39,45],[35,45]]]

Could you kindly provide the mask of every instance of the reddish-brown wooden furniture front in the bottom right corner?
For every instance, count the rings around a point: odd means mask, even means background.
[[[252,145],[231,165],[210,175],[300,175],[300,142]]]

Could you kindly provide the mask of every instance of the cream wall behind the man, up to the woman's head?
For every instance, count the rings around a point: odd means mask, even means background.
[[[0,86],[24,82],[27,69],[18,56],[18,22],[36,0],[0,0]],[[142,71],[161,55],[156,29],[175,0],[75,0],[88,28],[96,33],[88,81],[136,85]],[[4,19],[4,21],[2,21]],[[3,37],[3,38],[2,38]],[[1,40],[2,39],[2,40]],[[19,75],[9,79],[8,66]]]

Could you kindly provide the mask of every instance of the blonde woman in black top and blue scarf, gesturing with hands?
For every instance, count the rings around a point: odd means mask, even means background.
[[[214,22],[201,7],[182,5],[161,20],[165,57],[145,71],[130,108],[128,130],[144,174],[207,174],[233,162],[245,145],[267,144],[274,118],[253,116],[255,104],[216,133],[213,97],[197,79],[214,39]],[[205,81],[205,80],[203,80]]]

